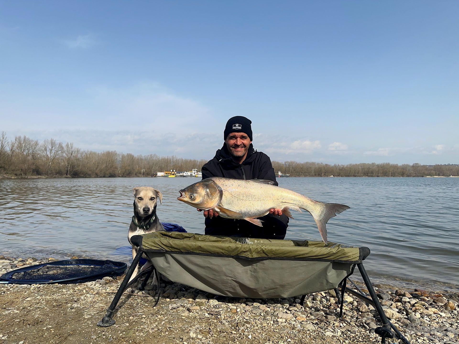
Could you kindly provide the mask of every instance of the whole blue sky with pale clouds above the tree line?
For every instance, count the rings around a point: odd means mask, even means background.
[[[0,1],[0,131],[211,159],[459,163],[457,1]]]

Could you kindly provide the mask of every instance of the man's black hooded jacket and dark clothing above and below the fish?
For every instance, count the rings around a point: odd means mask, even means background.
[[[224,177],[234,179],[267,179],[276,182],[274,168],[269,156],[257,152],[250,144],[246,159],[238,164],[226,148],[226,144],[217,150],[214,158],[202,166],[202,179]],[[284,239],[288,217],[268,214],[260,217],[263,227],[256,226],[246,220],[232,220],[221,216],[207,217],[205,220],[206,234],[240,236],[247,238]]]

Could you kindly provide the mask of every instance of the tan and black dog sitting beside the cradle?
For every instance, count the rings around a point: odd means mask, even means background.
[[[129,225],[128,241],[132,246],[132,259],[137,255],[137,247],[131,243],[131,237],[134,235],[146,234],[151,232],[163,231],[164,227],[156,214],[157,200],[162,204],[162,194],[159,190],[149,186],[140,186],[133,189],[134,191],[134,216],[132,216],[131,224]],[[145,255],[144,258],[147,258]],[[151,262],[147,262],[142,266],[142,269],[137,265],[129,282],[137,276],[140,271],[151,266]]]

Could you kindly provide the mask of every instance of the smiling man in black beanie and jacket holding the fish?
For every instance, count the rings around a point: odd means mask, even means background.
[[[267,179],[278,185],[269,156],[253,149],[251,124],[252,122],[243,116],[231,117],[228,120],[224,130],[223,147],[217,150],[212,160],[202,166],[202,179]],[[288,217],[282,214],[281,209],[271,209],[268,215],[260,217],[263,227],[246,220],[223,218],[212,209],[204,211],[204,217],[205,233],[209,235],[284,239],[288,226]]]

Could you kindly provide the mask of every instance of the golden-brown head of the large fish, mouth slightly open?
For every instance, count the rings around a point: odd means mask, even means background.
[[[197,209],[208,210],[216,207],[222,200],[223,191],[212,178],[191,184],[179,191],[177,200]]]

